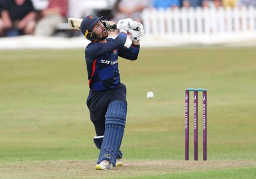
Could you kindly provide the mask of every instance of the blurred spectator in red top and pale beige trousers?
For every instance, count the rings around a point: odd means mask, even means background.
[[[36,24],[35,35],[52,36],[57,25],[67,21],[68,0],[49,0],[47,8],[41,11],[41,18]]]

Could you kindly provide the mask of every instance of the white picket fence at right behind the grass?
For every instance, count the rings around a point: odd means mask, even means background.
[[[145,35],[256,34],[256,8],[145,9]]]

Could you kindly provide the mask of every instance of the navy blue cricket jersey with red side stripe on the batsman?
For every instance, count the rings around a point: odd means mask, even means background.
[[[90,89],[104,91],[114,89],[120,83],[118,56],[135,61],[140,52],[140,45],[125,47],[127,35],[118,34],[108,38],[108,43],[91,42],[85,49]]]

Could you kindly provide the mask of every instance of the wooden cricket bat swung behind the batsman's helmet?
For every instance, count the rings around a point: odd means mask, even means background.
[[[80,25],[82,22],[83,18],[73,18],[73,17],[69,17],[68,18],[68,25],[71,29],[77,29],[80,30]],[[106,29],[108,32],[114,32],[116,29],[116,24],[112,21],[106,21],[106,20],[102,20],[102,23],[106,26]],[[140,27],[137,27],[136,29],[134,29],[136,31],[140,31]]]

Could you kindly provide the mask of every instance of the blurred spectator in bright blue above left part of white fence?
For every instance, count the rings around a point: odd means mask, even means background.
[[[180,0],[153,0],[152,6],[157,9],[179,8]]]

